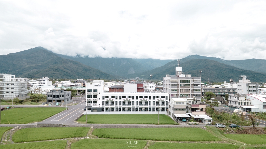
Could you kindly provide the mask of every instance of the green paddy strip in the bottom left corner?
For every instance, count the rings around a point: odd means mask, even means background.
[[[65,149],[66,140],[0,145],[1,149]]]

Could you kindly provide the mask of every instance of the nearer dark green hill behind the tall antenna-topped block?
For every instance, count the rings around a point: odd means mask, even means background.
[[[136,74],[136,76],[132,75],[132,77],[143,77],[145,79],[149,79],[150,74],[152,74],[153,80],[162,80],[165,75],[175,75],[175,67],[177,67],[176,60],[169,62],[162,67],[155,68],[151,71],[139,73]],[[199,71],[201,70],[202,81],[207,81],[208,78],[210,79],[210,81],[214,82],[229,81],[229,79],[231,78],[234,81],[238,81],[240,75],[248,76],[249,79],[253,82],[265,82],[266,80],[265,73],[243,70],[209,59],[187,60],[186,62],[181,63],[180,67],[182,67],[184,74],[191,74],[194,77],[199,77]]]

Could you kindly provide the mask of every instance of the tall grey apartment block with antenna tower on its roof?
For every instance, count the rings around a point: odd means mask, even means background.
[[[176,67],[176,75],[166,75],[163,78],[163,92],[167,92],[170,98],[201,99],[201,77],[191,77],[182,74],[182,67]]]

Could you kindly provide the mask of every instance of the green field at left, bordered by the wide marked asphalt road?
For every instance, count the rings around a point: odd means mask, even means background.
[[[51,117],[65,108],[12,108],[1,112],[1,124],[28,124]]]

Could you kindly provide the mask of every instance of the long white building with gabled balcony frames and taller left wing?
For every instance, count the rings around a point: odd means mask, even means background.
[[[168,93],[104,92],[102,80],[87,82],[86,88],[88,112],[93,114],[155,114],[156,111],[166,114],[168,109]]]

